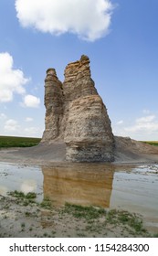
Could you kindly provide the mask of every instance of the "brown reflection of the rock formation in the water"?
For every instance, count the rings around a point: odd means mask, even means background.
[[[114,168],[111,165],[75,164],[42,167],[44,197],[56,206],[65,202],[109,208]]]

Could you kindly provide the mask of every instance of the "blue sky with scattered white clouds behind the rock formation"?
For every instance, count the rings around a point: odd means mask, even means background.
[[[47,68],[90,57],[113,133],[158,140],[157,0],[1,0],[0,134],[41,137]]]

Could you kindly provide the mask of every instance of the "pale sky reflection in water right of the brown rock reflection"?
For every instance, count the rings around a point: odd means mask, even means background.
[[[158,166],[115,172],[111,208],[123,208],[143,216],[146,227],[158,230]],[[151,229],[151,228],[150,228]]]

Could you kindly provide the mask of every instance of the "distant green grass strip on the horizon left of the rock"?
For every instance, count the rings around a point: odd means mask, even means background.
[[[39,144],[40,138],[0,136],[0,147],[29,147]]]

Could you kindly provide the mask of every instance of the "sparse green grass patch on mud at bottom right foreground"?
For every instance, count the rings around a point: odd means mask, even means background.
[[[66,204],[62,213],[72,215],[77,219],[85,219],[89,224],[87,230],[100,233],[101,229],[106,229],[108,224],[121,226],[122,229],[129,229],[133,234],[146,234],[147,230],[143,228],[142,219],[135,213],[126,210],[111,209],[106,211],[104,208],[82,207],[79,205]],[[100,221],[100,219],[104,219]]]

